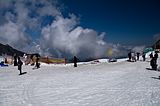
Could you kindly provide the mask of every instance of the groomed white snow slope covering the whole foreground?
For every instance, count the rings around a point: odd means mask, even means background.
[[[160,106],[160,72],[147,61],[0,67],[0,106]],[[158,59],[160,65],[160,59]]]

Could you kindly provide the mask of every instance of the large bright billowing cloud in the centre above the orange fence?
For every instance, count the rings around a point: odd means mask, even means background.
[[[42,47],[61,57],[78,55],[83,57],[98,57],[104,55],[106,43],[103,41],[104,33],[98,34],[92,29],[77,26],[77,18],[56,17],[51,26],[42,29]]]

